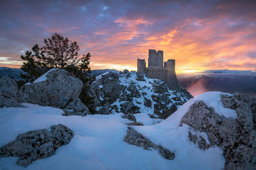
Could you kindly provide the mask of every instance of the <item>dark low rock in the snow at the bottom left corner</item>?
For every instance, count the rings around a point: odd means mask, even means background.
[[[62,145],[67,145],[74,132],[65,125],[52,125],[51,131],[41,129],[17,136],[15,141],[0,149],[0,157],[20,157],[19,166],[28,166],[37,159],[54,155]]]

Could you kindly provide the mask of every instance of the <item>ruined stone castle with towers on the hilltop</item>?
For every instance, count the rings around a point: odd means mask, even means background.
[[[145,59],[137,60],[137,71],[147,74],[149,78],[157,78],[164,81],[170,89],[179,89],[175,73],[175,60],[168,59],[163,62],[163,51],[148,50],[148,67]]]

